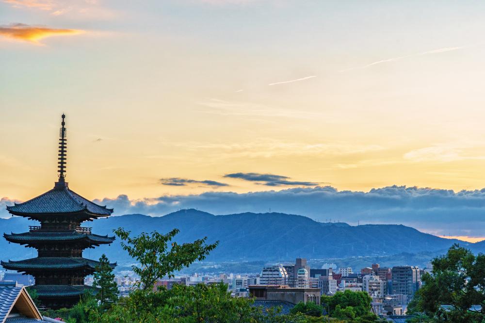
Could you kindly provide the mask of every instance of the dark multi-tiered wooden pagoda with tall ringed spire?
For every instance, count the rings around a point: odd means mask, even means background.
[[[59,139],[59,180],[54,188],[31,200],[8,206],[18,216],[37,220],[40,226],[30,226],[29,232],[4,233],[9,242],[36,248],[37,258],[3,262],[5,269],[24,272],[35,277],[35,289],[42,305],[50,308],[72,307],[89,286],[84,277],[94,273],[95,260],[82,258],[82,251],[102,243],[111,243],[114,237],[91,233],[83,227],[84,221],[106,217],[113,209],[99,206],[69,189],[65,181],[66,129],[65,115]],[[116,264],[112,264],[114,267]]]

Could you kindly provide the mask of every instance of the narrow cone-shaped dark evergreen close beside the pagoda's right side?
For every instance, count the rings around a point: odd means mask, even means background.
[[[118,299],[118,286],[114,281],[113,268],[105,254],[99,258],[93,279],[93,287],[98,289],[96,298],[101,304],[113,303]]]

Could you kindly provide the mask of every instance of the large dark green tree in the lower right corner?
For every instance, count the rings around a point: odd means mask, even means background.
[[[432,264],[433,273],[421,277],[423,286],[415,295],[411,312],[424,312],[437,322],[485,321],[485,255],[475,256],[453,244],[446,255],[433,259]]]

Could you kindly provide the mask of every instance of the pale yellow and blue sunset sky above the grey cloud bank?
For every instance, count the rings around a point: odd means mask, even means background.
[[[52,187],[63,112],[66,180],[91,199],[485,187],[484,1],[3,0],[0,13],[0,198]]]

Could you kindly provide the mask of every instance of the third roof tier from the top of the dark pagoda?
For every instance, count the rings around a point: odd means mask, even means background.
[[[75,269],[89,267],[95,269],[99,261],[86,258],[68,258],[68,257],[37,257],[19,261],[3,262],[1,265],[6,269],[24,271],[28,269]],[[116,263],[112,263],[114,268]]]

